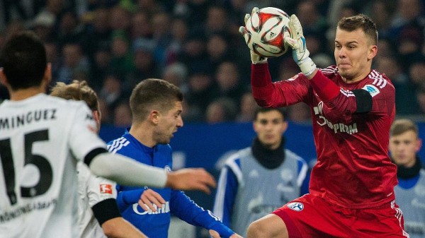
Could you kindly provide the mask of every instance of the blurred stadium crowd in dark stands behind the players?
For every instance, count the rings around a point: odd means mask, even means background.
[[[397,116],[425,115],[424,3],[421,0],[34,0],[1,1],[0,47],[14,32],[34,30],[52,63],[52,85],[87,81],[98,93],[103,124],[128,126],[128,97],[145,78],[164,78],[185,93],[183,119],[217,123],[251,121],[249,51],[238,28],[253,6],[295,13],[310,56],[319,68],[333,64],[334,25],[365,13],[378,26],[373,68],[396,88]],[[269,59],[273,81],[298,72],[291,55]],[[8,97],[0,86],[0,102]],[[304,104],[288,120],[307,122]]]

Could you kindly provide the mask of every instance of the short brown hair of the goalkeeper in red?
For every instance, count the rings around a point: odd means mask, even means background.
[[[348,32],[361,28],[363,32],[365,32],[365,35],[369,37],[372,44],[378,44],[378,30],[376,30],[376,25],[372,19],[364,14],[341,18],[336,25],[336,28],[346,30]]]

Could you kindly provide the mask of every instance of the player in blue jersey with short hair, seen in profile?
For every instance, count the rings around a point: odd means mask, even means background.
[[[169,142],[183,126],[182,101],[183,94],[176,85],[154,78],[140,82],[130,95],[132,126],[123,136],[108,143],[108,150],[171,171]],[[117,191],[123,218],[147,237],[168,237],[171,213],[191,225],[210,230],[212,237],[241,237],[223,225],[210,210],[196,205],[183,191],[120,185]],[[157,194],[163,199],[157,199],[154,196]]]

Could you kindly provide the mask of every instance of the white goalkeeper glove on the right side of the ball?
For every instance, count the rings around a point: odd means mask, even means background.
[[[317,68],[316,64],[310,59],[310,52],[305,45],[305,37],[302,34],[302,26],[297,16],[293,14],[290,16],[289,28],[291,37],[285,37],[285,44],[288,44],[293,49],[293,59],[301,72],[305,76],[310,76]]]

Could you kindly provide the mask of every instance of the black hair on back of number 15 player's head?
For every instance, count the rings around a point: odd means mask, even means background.
[[[34,32],[19,32],[4,44],[0,66],[12,90],[39,86],[47,67],[45,46]]]

